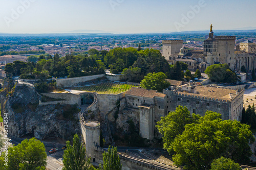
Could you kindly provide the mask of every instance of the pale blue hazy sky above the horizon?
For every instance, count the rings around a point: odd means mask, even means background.
[[[256,29],[255,7],[255,0],[0,0],[0,33]]]

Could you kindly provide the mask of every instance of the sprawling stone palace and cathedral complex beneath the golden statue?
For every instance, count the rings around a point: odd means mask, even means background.
[[[177,52],[180,44],[163,41],[163,56],[169,64],[175,64],[177,61],[188,64],[188,69],[192,71],[199,69],[204,72],[208,66],[222,63],[228,64],[232,70],[238,72],[244,65],[247,72],[251,72],[253,67],[256,68],[256,44],[247,40],[240,43],[234,51],[235,40],[236,36],[214,36],[211,30],[209,37],[204,41],[203,50],[187,50],[182,47]],[[170,50],[171,45],[175,50]]]

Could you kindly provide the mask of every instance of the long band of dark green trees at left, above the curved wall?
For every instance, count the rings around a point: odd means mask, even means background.
[[[16,62],[16,63],[15,63]],[[39,61],[25,63],[15,61],[6,65],[8,75],[20,76],[22,79],[45,79],[51,77],[80,77],[104,73],[104,63],[96,56],[66,55],[60,58],[56,54],[53,59],[40,56]]]

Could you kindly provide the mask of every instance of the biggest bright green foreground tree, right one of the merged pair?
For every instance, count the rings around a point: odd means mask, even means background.
[[[185,125],[173,144],[173,160],[184,169],[207,169],[220,156],[248,162],[252,152],[248,143],[254,137],[249,126],[237,120],[222,120],[221,114],[207,111],[198,123]]]

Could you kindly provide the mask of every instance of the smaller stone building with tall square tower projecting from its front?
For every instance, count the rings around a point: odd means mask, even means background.
[[[156,90],[131,88],[125,94],[127,107],[138,109],[139,133],[142,137],[153,139],[156,135],[156,122],[165,116],[166,95]]]

